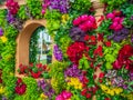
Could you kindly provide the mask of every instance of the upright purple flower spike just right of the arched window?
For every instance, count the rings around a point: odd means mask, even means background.
[[[59,49],[59,47],[55,44],[53,50],[54,57],[57,60],[62,61],[63,54],[62,51]]]

